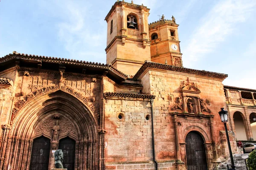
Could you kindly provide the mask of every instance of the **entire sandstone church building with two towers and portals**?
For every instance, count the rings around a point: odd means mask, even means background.
[[[51,170],[57,149],[68,170],[216,169],[229,157],[222,107],[233,153],[237,139],[256,139],[256,90],[184,68],[175,17],[148,24],[148,15],[114,3],[107,64],[0,58],[0,170]]]

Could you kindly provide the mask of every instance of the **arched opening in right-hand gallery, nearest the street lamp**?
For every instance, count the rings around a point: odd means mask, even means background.
[[[236,139],[237,140],[247,140],[246,131],[244,128],[244,116],[241,112],[236,111],[233,114],[235,131],[236,131]]]

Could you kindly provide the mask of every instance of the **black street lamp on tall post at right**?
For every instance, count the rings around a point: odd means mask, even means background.
[[[219,111],[219,115],[221,117],[221,122],[223,122],[224,126],[225,126],[225,131],[226,131],[226,136],[227,136],[227,144],[228,144],[228,149],[230,152],[230,160],[231,160],[232,168],[229,168],[227,165],[227,169],[228,170],[236,170],[236,166],[234,164],[234,159],[233,159],[232,150],[231,150],[231,146],[230,146],[230,140],[229,140],[228,133],[227,133],[227,111],[225,111],[224,108],[221,108],[221,111]]]

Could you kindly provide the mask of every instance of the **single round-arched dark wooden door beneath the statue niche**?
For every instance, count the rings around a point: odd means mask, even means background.
[[[186,136],[186,160],[187,170],[207,170],[204,139],[196,131]]]

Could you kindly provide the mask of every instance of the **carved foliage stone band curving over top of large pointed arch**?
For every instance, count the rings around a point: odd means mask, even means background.
[[[48,86],[48,87],[43,87],[41,89],[38,89],[36,91],[32,91],[30,94],[23,96],[22,100],[19,100],[15,104],[15,108],[12,110],[12,121],[15,120],[17,113],[22,110],[25,107],[29,107],[31,104],[33,104],[33,101],[38,100],[41,96],[52,94],[58,90],[64,91],[67,94],[70,94],[77,99],[79,99],[84,105],[87,106],[88,109],[93,113],[95,111],[95,106],[93,104],[89,105],[89,99],[85,97],[83,94],[81,94],[79,91],[76,91],[75,89],[68,87],[68,86],[61,86],[59,88],[58,85],[54,86]],[[96,119],[99,118],[99,113],[95,113],[94,116],[96,116]]]

